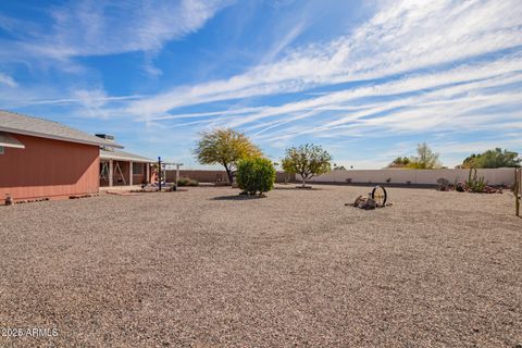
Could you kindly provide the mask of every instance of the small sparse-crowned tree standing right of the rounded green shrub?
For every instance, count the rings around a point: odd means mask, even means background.
[[[282,160],[283,170],[290,174],[299,174],[304,187],[307,181],[315,175],[332,171],[332,156],[319,145],[306,144],[286,149]]]

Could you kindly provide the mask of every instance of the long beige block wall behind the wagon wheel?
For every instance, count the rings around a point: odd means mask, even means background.
[[[436,185],[437,179],[444,177],[450,183],[464,182],[468,179],[469,170],[352,170],[352,171],[332,171],[331,173],[313,177],[309,182],[313,183],[386,183],[389,178],[390,184],[411,184]],[[514,169],[483,169],[478,170],[478,175],[484,176],[489,185],[511,185],[514,183]],[[299,179],[299,177],[298,177]]]

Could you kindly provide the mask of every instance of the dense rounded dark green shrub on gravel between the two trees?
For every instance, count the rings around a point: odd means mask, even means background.
[[[238,163],[236,178],[238,187],[245,192],[262,195],[274,187],[275,167],[268,159],[246,159]]]

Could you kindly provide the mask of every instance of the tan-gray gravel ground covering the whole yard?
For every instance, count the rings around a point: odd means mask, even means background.
[[[315,187],[0,207],[0,346],[522,345],[512,196]]]

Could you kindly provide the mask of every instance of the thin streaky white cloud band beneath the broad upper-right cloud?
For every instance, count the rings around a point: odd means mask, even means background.
[[[520,72],[519,72],[520,71]],[[472,94],[484,88],[492,88],[522,80],[522,57],[515,55],[494,62],[464,65],[444,72],[432,72],[427,74],[413,75],[398,80],[374,84],[370,87],[348,88],[340,91],[324,94],[316,98],[309,98],[302,101],[289,102],[277,107],[258,107],[239,110],[223,110],[208,116],[219,115],[215,120],[217,125],[233,127],[247,126],[247,130],[264,128],[271,129],[274,125],[287,124],[294,121],[312,117],[319,113],[343,111],[339,116],[331,116],[330,121],[322,122],[318,128],[303,124],[307,133],[326,132],[358,119],[403,107],[428,107],[430,102],[451,103],[452,98],[462,94]],[[430,91],[433,89],[432,91]],[[418,94],[417,96],[403,96]],[[394,97],[393,100],[360,101],[364,98]],[[389,98],[388,98],[389,99]],[[467,99],[470,104],[475,100]],[[490,98],[493,104],[502,103],[504,100],[497,97]],[[353,104],[357,103],[357,104]],[[455,103],[455,101],[453,101]],[[451,114],[452,110],[446,110]],[[338,112],[336,114],[339,114]],[[237,115],[237,116],[236,116]],[[189,117],[190,114],[171,115],[170,119]],[[276,117],[274,116],[281,116]],[[263,119],[268,122],[259,123]],[[383,116],[386,120],[386,115]],[[385,121],[383,121],[386,123]],[[252,124],[252,125],[249,125]],[[258,132],[258,133],[262,133]],[[284,132],[284,130],[282,130]]]

